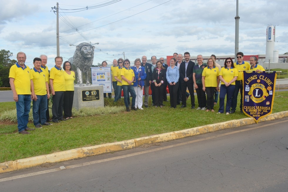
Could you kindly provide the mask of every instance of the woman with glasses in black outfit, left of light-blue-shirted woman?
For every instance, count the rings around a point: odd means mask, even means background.
[[[163,94],[166,89],[164,82],[166,81],[166,69],[160,60],[156,62],[156,68],[152,73],[152,83],[155,90],[155,107],[163,107]]]

